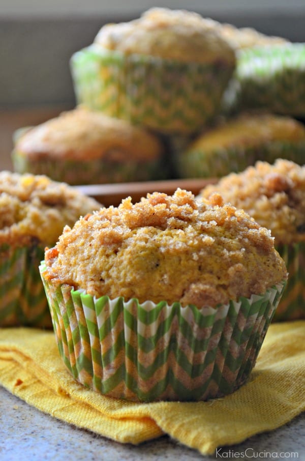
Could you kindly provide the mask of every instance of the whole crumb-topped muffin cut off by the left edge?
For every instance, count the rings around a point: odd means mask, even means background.
[[[45,176],[0,172],[0,327],[52,327],[38,269],[44,248],[100,207]]]

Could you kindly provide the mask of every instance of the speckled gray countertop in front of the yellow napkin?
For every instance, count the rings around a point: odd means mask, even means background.
[[[202,427],[204,431],[204,426]],[[1,461],[172,461],[182,459],[305,460],[305,413],[270,433],[203,456],[164,436],[139,446],[119,444],[76,428],[27,405],[0,387]]]

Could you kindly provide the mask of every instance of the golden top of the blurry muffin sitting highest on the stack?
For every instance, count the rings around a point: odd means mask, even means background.
[[[235,65],[231,46],[199,14],[185,10],[151,8],[139,19],[106,24],[95,43],[125,54],[159,56],[179,62]]]

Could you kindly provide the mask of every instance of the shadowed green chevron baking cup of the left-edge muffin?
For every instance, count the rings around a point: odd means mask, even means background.
[[[0,327],[51,328],[51,316],[39,274],[44,249],[0,246]]]

